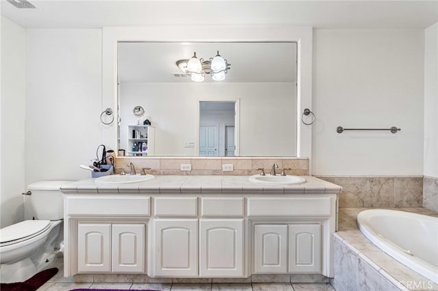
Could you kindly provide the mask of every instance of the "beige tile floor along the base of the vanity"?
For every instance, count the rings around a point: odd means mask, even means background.
[[[47,283],[38,288],[37,291],[70,291],[77,288],[94,288],[94,289],[130,289],[130,290],[160,290],[160,291],[177,291],[177,290],[242,290],[242,291],[334,291],[335,289],[330,283],[252,283],[250,279],[242,279],[242,283],[212,283],[211,279],[198,281],[207,281],[207,283],[179,283],[180,281],[190,281],[188,279],[162,279],[168,283],[154,283],[153,278],[146,277],[144,283],[115,283],[107,281],[126,281],[129,275],[79,275],[79,277],[64,277],[63,276],[63,262],[62,259],[55,262],[54,267],[60,271],[49,279]],[[144,278],[136,278],[133,281],[142,281]],[[83,282],[79,282],[83,281]],[[226,281],[226,280],[224,280]],[[239,280],[240,281],[240,280]]]

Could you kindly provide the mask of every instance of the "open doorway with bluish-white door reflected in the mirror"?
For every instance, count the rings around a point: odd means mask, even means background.
[[[199,156],[235,156],[235,101],[199,101]]]

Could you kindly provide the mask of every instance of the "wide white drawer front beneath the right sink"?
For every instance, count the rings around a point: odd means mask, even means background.
[[[331,197],[248,198],[248,217],[329,217],[331,214]]]

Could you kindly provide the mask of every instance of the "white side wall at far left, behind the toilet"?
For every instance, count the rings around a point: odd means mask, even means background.
[[[24,219],[25,29],[1,16],[0,227]]]

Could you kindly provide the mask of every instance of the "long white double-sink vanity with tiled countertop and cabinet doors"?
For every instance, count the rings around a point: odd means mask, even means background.
[[[81,180],[64,193],[64,275],[333,277],[340,186],[251,182],[248,176]]]

